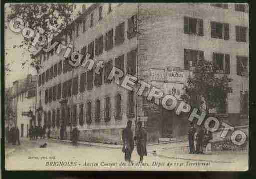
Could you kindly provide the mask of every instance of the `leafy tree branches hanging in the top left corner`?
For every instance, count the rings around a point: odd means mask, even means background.
[[[27,27],[41,28],[46,36],[49,34],[55,36],[71,23],[72,12],[76,5],[73,3],[9,3],[5,8],[10,9],[6,18],[7,22],[14,17],[20,17]],[[5,27],[7,28],[7,25]],[[13,45],[13,48],[22,48],[21,56],[24,53],[31,56],[31,59],[25,59],[22,66],[30,62],[30,65],[38,70],[39,62],[33,58],[34,49],[31,42],[31,39],[24,38],[20,44]]]

